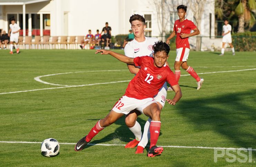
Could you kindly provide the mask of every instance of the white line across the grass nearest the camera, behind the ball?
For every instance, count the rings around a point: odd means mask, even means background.
[[[0,141],[0,143],[41,144],[41,142],[9,142],[9,141]],[[63,145],[75,145],[76,143],[59,143],[59,144],[63,144]],[[88,145],[97,145],[97,146],[125,146],[125,144],[93,144],[93,143],[89,143]],[[252,149],[252,148],[230,148],[230,147],[202,147],[202,146],[159,146],[159,147],[199,148],[199,149],[236,149],[236,150],[256,151],[256,149]]]

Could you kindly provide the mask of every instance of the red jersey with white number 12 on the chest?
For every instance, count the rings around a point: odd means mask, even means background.
[[[133,60],[135,66],[140,66],[138,74],[130,81],[125,96],[135,99],[153,98],[164,82],[171,86],[178,85],[175,75],[166,64],[159,68],[154,66],[153,57],[142,56]]]

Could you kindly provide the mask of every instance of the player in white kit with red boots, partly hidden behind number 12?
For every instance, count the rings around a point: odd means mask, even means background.
[[[153,57],[152,46],[155,44],[155,42],[158,41],[158,39],[145,37],[144,35],[144,30],[146,29],[145,19],[143,18],[143,16],[139,14],[134,14],[130,17],[129,21],[131,23],[131,28],[134,33],[134,40],[125,45],[125,48],[124,48],[125,56],[135,58],[135,57],[148,55]],[[135,67],[134,65],[127,64],[127,67],[129,68],[132,74],[137,74],[138,71],[140,70],[140,67]],[[165,104],[165,99],[167,96],[166,90],[167,90],[167,86],[165,83],[164,86],[158,92],[157,96],[154,97],[154,100],[157,101],[160,110],[162,110]],[[143,150],[146,144],[148,144],[148,140],[150,138],[149,126],[150,126],[151,119],[149,118],[148,121],[146,121],[146,124],[144,126],[143,136],[142,136],[141,126],[139,122],[136,121],[136,119],[138,118],[138,115],[140,114],[141,113],[135,110],[130,112],[125,118],[126,125],[135,135],[135,139],[127,143],[125,148],[133,148],[138,144],[138,147],[136,149],[136,154],[143,153]]]

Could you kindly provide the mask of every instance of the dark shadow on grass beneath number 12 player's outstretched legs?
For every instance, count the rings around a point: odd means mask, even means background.
[[[99,119],[88,119],[88,120],[98,121]],[[140,123],[141,128],[142,128],[142,133],[143,133],[144,125],[145,125],[146,121],[141,119],[140,116],[138,117],[137,121]],[[94,144],[110,142],[110,141],[115,140],[115,139],[117,139],[117,140],[114,141],[114,143],[112,143],[112,144],[121,144],[120,141],[128,143],[128,142],[132,141],[135,138],[134,134],[129,130],[129,128],[125,124],[125,116],[122,116],[114,124],[121,125],[121,126],[118,127],[117,129],[115,129],[113,133],[110,133],[110,134],[104,136],[100,140],[93,140],[92,139],[92,141],[90,142],[91,144],[87,145],[85,148],[91,147]],[[110,125],[110,126],[112,126],[112,125]],[[106,128],[108,128],[108,127],[106,127]],[[97,134],[97,135],[101,135],[101,132],[99,132],[99,134]],[[160,135],[161,135],[161,132],[160,132]]]

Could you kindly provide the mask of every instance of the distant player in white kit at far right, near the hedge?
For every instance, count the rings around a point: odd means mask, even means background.
[[[220,56],[224,55],[224,51],[225,51],[225,44],[228,43],[229,46],[232,49],[232,55],[235,55],[235,48],[232,45],[232,38],[231,38],[231,25],[228,24],[228,20],[224,20],[224,24],[222,27],[222,48],[221,48],[221,54]]]

